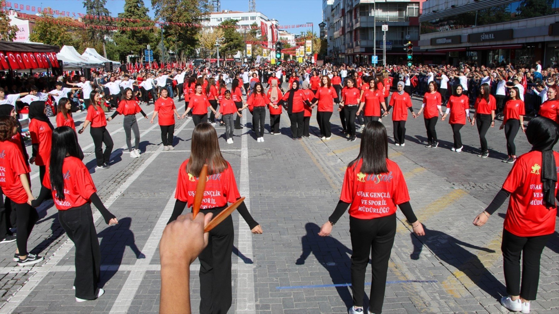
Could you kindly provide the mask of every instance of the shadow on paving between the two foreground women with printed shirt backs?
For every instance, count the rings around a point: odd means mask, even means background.
[[[305,260],[312,253],[316,260],[328,270],[330,278],[334,284],[347,284],[351,281],[351,260],[348,254],[352,254],[352,250],[343,245],[342,242],[334,239],[334,237],[321,237],[318,235],[320,227],[316,223],[307,222],[305,225],[307,234],[301,239],[303,251],[295,264],[304,265]],[[353,305],[353,298],[349,293],[348,286],[336,287],[340,298],[345,306]]]

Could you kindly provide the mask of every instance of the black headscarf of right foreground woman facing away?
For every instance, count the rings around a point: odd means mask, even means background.
[[[557,168],[553,156],[553,146],[559,139],[559,129],[555,121],[546,117],[533,118],[526,128],[526,137],[532,150],[542,152],[542,189],[546,207],[555,208],[555,184]]]

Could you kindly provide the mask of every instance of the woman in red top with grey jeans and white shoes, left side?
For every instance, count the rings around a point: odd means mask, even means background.
[[[163,88],[165,89],[165,88]],[[162,89],[162,91],[163,91]],[[159,91],[159,96],[161,96],[161,91]],[[132,89],[124,89],[124,98],[119,102],[119,107],[116,108],[115,113],[107,119],[111,121],[117,115],[124,115],[124,120],[122,120],[122,126],[124,127],[124,132],[126,134],[126,145],[128,145],[128,151],[130,151],[130,157],[138,158],[140,156],[140,129],[138,129],[138,121],[136,120],[136,115],[141,113],[144,118],[148,118],[148,115],[140,108],[140,105],[136,99],[132,96]],[[132,136],[130,130],[134,131],[134,148],[132,148]]]

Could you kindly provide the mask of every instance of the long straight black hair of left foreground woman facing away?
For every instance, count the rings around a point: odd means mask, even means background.
[[[79,158],[78,137],[69,126],[59,126],[53,130],[53,146],[50,151],[50,185],[56,198],[64,201],[64,174],[62,166],[67,156]]]

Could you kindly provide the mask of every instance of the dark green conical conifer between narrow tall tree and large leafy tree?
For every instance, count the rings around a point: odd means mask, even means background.
[[[144,0],[125,0],[124,13],[119,14],[120,18],[130,20],[140,20],[146,22],[120,20],[119,27],[148,27],[154,26],[154,22],[148,16],[148,8],[144,5]],[[120,30],[113,35],[115,42],[115,52],[119,55],[119,60],[125,60],[129,54],[143,55],[146,45],[157,46],[159,34],[153,28],[148,30]],[[158,32],[157,32],[158,33]]]

